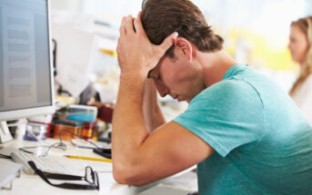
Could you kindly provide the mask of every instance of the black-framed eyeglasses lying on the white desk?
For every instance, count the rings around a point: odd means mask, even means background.
[[[37,175],[48,184],[62,189],[70,190],[99,190],[98,175],[96,171],[93,171],[91,167],[86,167],[85,177],[75,176],[75,175],[66,175],[66,174],[57,174],[57,173],[48,173],[37,169],[34,161],[28,161],[30,167],[35,171]],[[51,180],[86,180],[89,185],[76,184],[76,183],[52,183]]]

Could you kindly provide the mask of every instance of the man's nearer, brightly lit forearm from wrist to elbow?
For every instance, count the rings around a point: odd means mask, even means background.
[[[148,136],[142,108],[146,78],[141,77],[120,76],[112,132],[113,161],[117,162],[115,166],[131,163]]]

